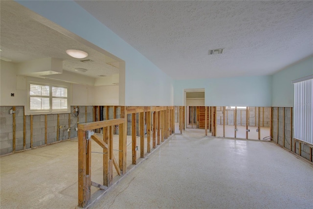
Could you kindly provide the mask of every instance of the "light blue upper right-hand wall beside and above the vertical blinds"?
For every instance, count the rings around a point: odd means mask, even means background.
[[[313,74],[313,57],[309,57],[272,76],[272,106],[293,107],[294,87],[292,80]]]

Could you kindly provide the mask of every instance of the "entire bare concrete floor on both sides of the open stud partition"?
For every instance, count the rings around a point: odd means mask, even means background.
[[[310,163],[267,141],[201,133],[187,129],[173,136],[91,208],[312,209]],[[92,142],[92,151],[102,150]],[[101,170],[102,154],[92,153],[92,181],[101,183]],[[77,141],[1,157],[0,178],[1,209],[75,208]]]

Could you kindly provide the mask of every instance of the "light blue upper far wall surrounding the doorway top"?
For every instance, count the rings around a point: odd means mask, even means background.
[[[184,89],[205,89],[205,106],[271,106],[271,76],[174,81],[174,105],[183,105]]]

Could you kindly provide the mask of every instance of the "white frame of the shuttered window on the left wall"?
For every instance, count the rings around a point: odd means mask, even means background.
[[[37,110],[31,110],[30,109],[30,98],[32,97],[30,95],[30,85],[37,85],[37,86],[47,86],[49,87],[49,96],[43,96],[43,97],[48,97],[49,98],[49,109],[42,110],[42,109],[37,109]],[[53,96],[52,95],[52,88],[63,88],[67,90],[67,97],[60,97],[60,96]],[[28,81],[27,82],[27,108],[25,108],[25,115],[41,115],[41,114],[65,114],[65,113],[70,113],[70,86],[67,85],[60,85],[60,84],[52,84],[52,83],[41,83],[41,82],[34,82],[34,81]],[[33,97],[41,97],[41,96],[33,96]],[[66,98],[67,99],[67,108],[66,109],[52,109],[52,99],[53,98]]]

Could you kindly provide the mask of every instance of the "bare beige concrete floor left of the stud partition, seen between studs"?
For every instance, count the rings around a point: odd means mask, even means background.
[[[99,134],[102,138],[102,134]],[[151,151],[152,149],[152,140]],[[132,137],[127,137],[127,166],[132,164]],[[137,138],[140,159],[140,138]],[[91,180],[103,183],[103,149],[91,142]],[[145,136],[145,155],[147,138]],[[118,135],[113,136],[113,154],[118,162]],[[78,139],[71,139],[0,158],[1,209],[68,209],[77,206]],[[113,177],[117,172],[113,168]],[[91,187],[91,193],[99,189]]]

